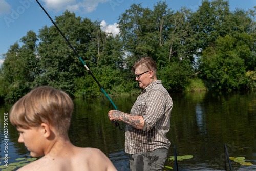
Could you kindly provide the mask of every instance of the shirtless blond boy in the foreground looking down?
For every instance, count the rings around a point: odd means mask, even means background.
[[[40,159],[19,170],[116,170],[96,148],[74,146],[68,137],[73,111],[71,98],[63,91],[41,86],[18,100],[10,110],[10,121],[19,131],[32,157]]]

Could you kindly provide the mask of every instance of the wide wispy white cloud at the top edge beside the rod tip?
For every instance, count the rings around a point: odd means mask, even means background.
[[[0,0],[2,1],[2,0]],[[88,13],[96,10],[99,3],[105,3],[110,0],[42,0],[46,3],[46,8],[53,9],[56,12],[69,10],[71,12],[80,11]]]

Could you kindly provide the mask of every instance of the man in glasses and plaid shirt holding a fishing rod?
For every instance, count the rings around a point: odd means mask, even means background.
[[[133,71],[142,88],[141,95],[130,114],[111,110],[108,117],[127,123],[125,152],[130,154],[131,171],[162,170],[170,146],[166,133],[173,101],[161,80],[157,80],[157,65],[152,58],[142,57],[133,65]]]

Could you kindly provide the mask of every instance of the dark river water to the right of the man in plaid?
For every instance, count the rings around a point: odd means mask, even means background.
[[[256,103],[251,103],[256,99],[255,92],[193,92],[172,97],[173,127],[167,137],[177,146],[179,155],[194,156],[194,160],[180,162],[180,169],[201,169],[202,163],[204,169],[224,169],[224,143],[230,156],[246,156],[246,161],[255,164],[256,134],[250,131],[256,128]],[[255,166],[233,163],[234,170],[252,168]]]

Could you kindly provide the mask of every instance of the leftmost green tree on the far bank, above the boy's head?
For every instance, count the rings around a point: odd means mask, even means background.
[[[38,69],[36,56],[36,34],[29,31],[26,36],[20,39],[23,46],[19,47],[16,42],[10,46],[4,54],[4,63],[1,67],[2,89],[0,95],[5,101],[14,102],[23,97],[33,89],[33,80]]]

